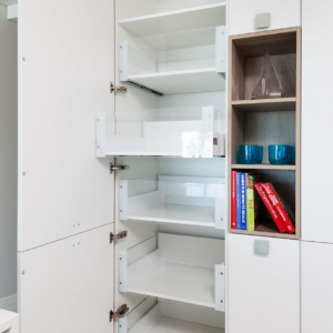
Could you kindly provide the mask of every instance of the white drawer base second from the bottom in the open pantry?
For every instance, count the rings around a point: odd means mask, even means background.
[[[215,309],[214,270],[161,262],[128,284],[128,292]]]

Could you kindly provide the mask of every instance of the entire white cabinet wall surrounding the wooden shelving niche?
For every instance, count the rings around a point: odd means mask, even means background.
[[[19,1],[21,333],[332,331],[331,9],[302,1],[299,241],[228,235],[224,148],[228,31],[300,0]]]

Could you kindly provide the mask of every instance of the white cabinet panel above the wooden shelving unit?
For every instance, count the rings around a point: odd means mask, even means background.
[[[274,30],[301,26],[301,0],[230,0],[230,34]],[[269,29],[255,29],[254,17],[269,12]]]

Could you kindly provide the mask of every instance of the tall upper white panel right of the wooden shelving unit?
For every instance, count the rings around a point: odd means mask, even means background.
[[[303,0],[302,239],[333,243],[333,2]]]

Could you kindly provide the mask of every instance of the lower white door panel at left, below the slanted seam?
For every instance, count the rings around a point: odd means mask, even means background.
[[[113,332],[112,228],[19,254],[21,333]]]

